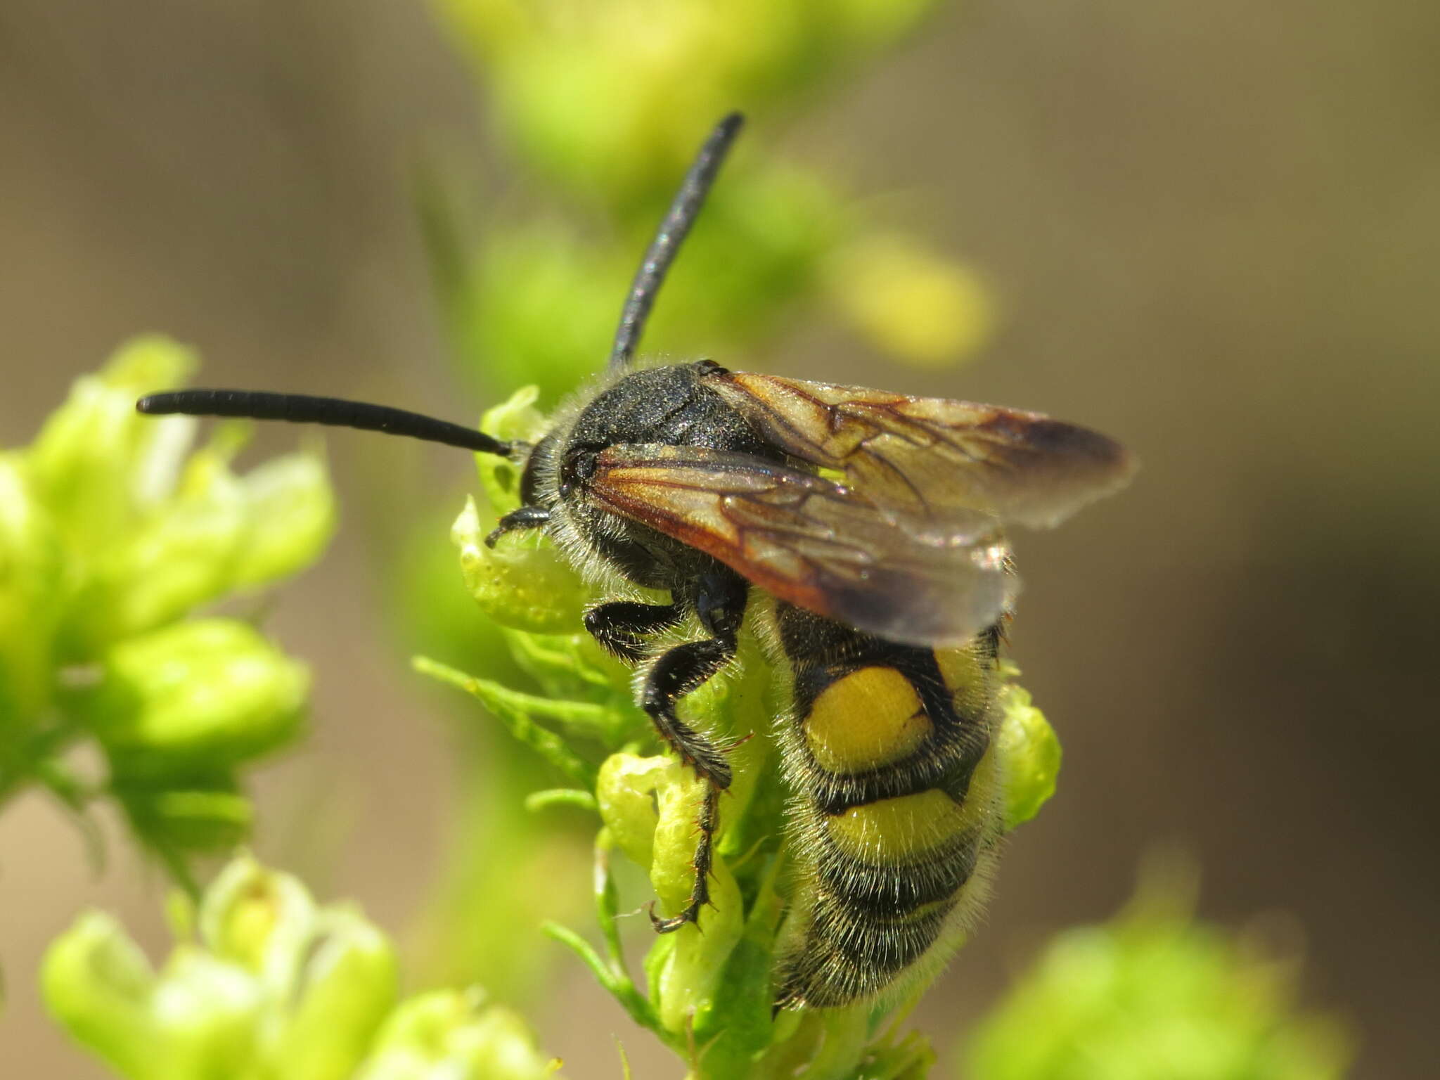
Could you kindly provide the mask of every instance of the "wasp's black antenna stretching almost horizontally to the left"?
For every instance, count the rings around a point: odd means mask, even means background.
[[[328,423],[336,428],[380,431],[409,435],[412,439],[441,442],[446,446],[498,454],[508,458],[517,446],[501,442],[474,428],[436,420],[418,412],[387,405],[347,402],[340,397],[311,397],[302,393],[264,393],[259,390],[170,390],[135,402],[143,413],[184,413],[187,416],[245,416],[252,420],[288,420],[291,423]]]

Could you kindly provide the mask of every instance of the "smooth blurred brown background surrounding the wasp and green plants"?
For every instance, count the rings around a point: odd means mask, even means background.
[[[768,132],[852,164],[860,192],[939,207],[914,223],[1004,305],[965,370],[877,372],[816,328],[788,373],[1044,409],[1145,464],[1123,498],[1020,537],[1014,652],[1066,769],[922,1011],[942,1045],[1169,844],[1204,868],[1204,914],[1295,916],[1308,1001],[1362,1031],[1358,1076],[1434,1070],[1437,42],[1440,6],[1404,0],[981,0]],[[423,4],[4,0],[0,444],[151,328],[200,347],[209,382],[472,416],[405,190],[435,145],[503,168]],[[315,733],[264,770],[258,848],[403,933],[456,792],[384,575],[397,523],[435,514],[468,462],[330,446],[343,531],[271,624],[314,665]],[[96,876],[36,798],[0,819],[0,868],[3,1071],[99,1076],[42,1017],[35,966],[95,903],[158,949],[161,881],[121,845]],[[618,1074],[608,1032],[628,1022],[560,971],[546,1045],[567,1076]],[[674,1074],[626,1045],[636,1076]]]

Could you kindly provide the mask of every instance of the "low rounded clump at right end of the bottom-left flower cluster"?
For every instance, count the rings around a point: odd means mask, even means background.
[[[356,1080],[543,1080],[559,1067],[516,1012],[475,991],[433,991],[395,1011]]]

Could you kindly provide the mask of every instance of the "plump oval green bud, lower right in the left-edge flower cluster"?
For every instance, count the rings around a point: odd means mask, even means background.
[[[78,700],[117,770],[167,775],[282,746],[300,727],[310,677],[252,626],[183,622],[122,641]]]

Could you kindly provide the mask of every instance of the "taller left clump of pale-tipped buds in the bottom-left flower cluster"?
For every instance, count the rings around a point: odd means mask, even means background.
[[[298,880],[249,857],[225,868],[193,922],[199,945],[177,946],[156,976],[114,920],[82,917],[46,956],[50,1011],[134,1080],[354,1076],[395,1005],[384,935],[347,907],[317,909]]]

